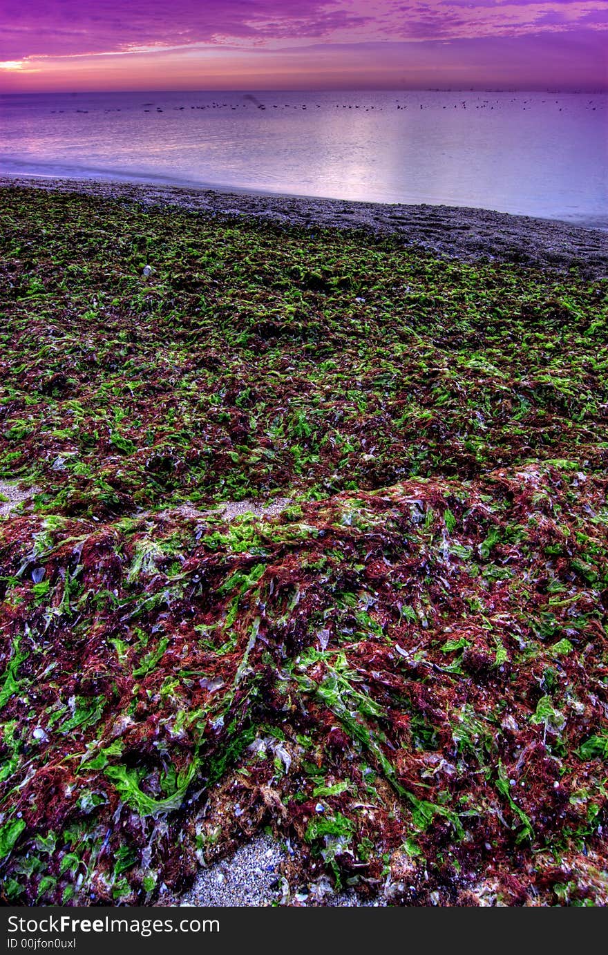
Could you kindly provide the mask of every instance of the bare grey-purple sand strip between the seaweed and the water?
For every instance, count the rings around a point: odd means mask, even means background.
[[[608,275],[608,232],[558,220],[489,209],[315,199],[222,191],[123,180],[0,176],[0,188],[75,192],[99,199],[177,208],[226,218],[246,217],[283,227],[364,230],[395,236],[439,257],[489,259],[566,271],[585,278]]]

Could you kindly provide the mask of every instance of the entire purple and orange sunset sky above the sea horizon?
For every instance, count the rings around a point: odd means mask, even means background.
[[[607,0],[3,0],[0,93],[608,89]]]

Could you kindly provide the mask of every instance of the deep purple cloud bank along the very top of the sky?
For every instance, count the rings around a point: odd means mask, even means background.
[[[602,29],[605,0],[5,0],[0,57],[199,44],[277,48]]]

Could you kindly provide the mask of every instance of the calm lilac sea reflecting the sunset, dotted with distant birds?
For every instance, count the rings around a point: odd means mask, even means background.
[[[468,205],[608,228],[608,96],[0,96],[0,170]]]

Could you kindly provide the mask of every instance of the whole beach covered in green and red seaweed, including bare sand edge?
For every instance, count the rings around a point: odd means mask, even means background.
[[[607,265],[0,179],[3,902],[608,902]]]

